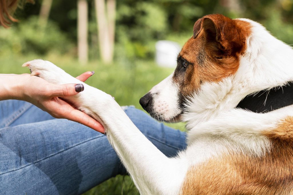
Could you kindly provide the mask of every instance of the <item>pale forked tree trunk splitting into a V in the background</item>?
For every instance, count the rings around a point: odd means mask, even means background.
[[[113,61],[115,38],[115,0],[95,0],[100,56],[103,62]]]

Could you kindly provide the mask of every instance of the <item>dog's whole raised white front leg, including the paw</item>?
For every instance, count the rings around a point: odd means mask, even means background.
[[[83,83],[48,61],[33,60],[23,66],[29,66],[32,75],[55,84]],[[160,152],[110,95],[84,84],[83,92],[67,100],[103,124],[140,194],[179,194],[188,165]]]

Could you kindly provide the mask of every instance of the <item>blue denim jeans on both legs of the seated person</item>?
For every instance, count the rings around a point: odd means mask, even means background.
[[[165,155],[186,147],[185,133],[124,110]],[[105,135],[25,101],[0,101],[1,195],[81,194],[117,174],[126,170]]]

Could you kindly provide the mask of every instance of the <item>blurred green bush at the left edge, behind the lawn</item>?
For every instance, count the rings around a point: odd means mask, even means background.
[[[49,51],[64,54],[73,44],[56,23],[48,21],[47,26],[38,23],[32,16],[10,29],[0,30],[1,52],[14,54],[47,54]]]

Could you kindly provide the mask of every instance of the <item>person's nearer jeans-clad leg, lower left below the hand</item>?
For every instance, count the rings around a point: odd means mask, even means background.
[[[0,129],[0,194],[80,194],[118,172],[105,135],[65,119]]]

